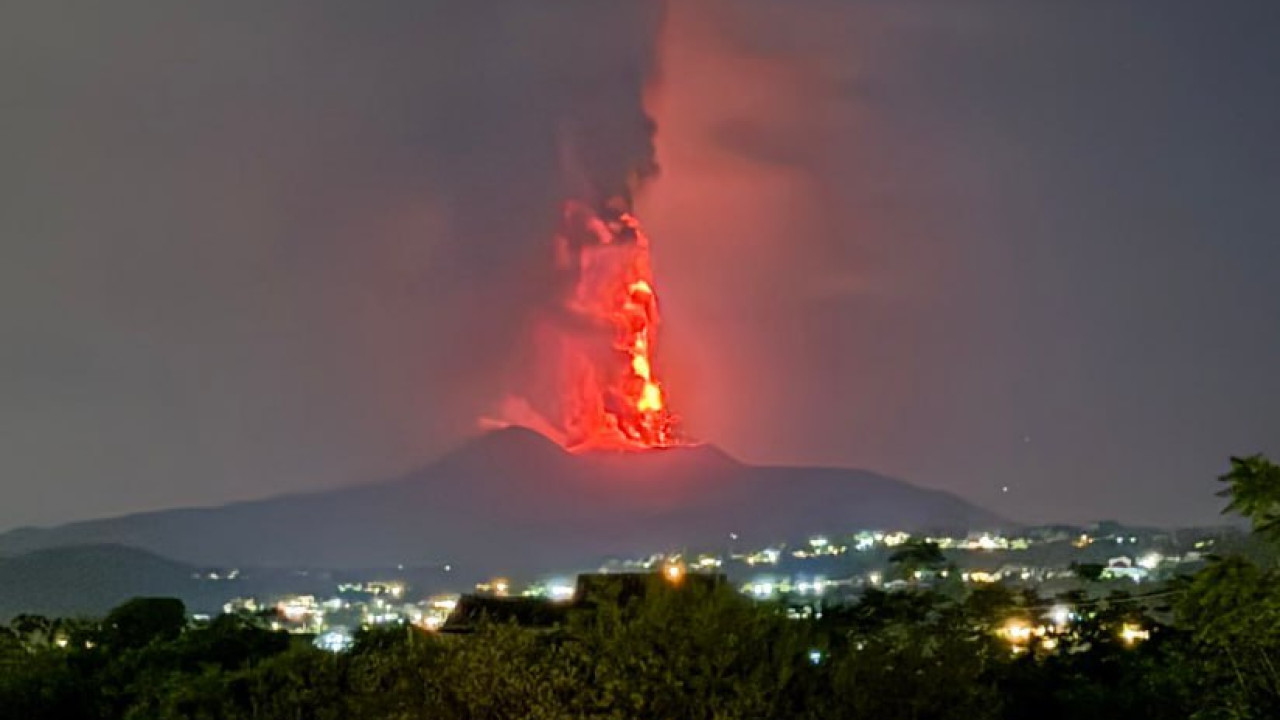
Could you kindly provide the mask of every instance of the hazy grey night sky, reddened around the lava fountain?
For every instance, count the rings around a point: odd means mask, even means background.
[[[564,115],[641,99],[696,437],[1028,521],[1212,521],[1229,455],[1280,456],[1280,4],[659,10],[0,8],[0,529],[477,433]]]

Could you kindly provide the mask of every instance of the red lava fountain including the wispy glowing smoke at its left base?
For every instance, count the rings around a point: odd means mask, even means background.
[[[522,425],[571,451],[684,445],[658,379],[649,237],[630,201],[564,201],[553,247],[559,292],[535,323],[526,387],[483,424]]]

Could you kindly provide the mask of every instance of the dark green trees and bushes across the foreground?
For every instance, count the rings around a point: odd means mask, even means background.
[[[549,629],[371,629],[343,653],[138,600],[0,628],[0,716],[1280,717],[1280,468],[1238,459],[1224,480],[1257,546],[1142,597],[942,583],[797,620],[727,588],[660,592]],[[1075,616],[1055,628],[1057,602]]]

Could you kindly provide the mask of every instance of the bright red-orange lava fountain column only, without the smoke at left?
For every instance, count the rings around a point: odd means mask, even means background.
[[[676,418],[654,363],[658,299],[649,238],[628,202],[614,197],[599,210],[566,202],[556,264],[567,281],[564,310],[575,324],[594,328],[590,336],[596,338],[561,342],[562,443],[568,448],[677,445]]]

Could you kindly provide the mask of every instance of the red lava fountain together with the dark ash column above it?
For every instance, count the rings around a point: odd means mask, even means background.
[[[573,450],[666,447],[678,442],[676,420],[658,378],[649,238],[631,206],[632,190],[657,173],[644,95],[662,5],[579,9],[579,22],[611,32],[584,33],[556,55],[570,81],[558,86],[564,200],[549,243],[554,281],[498,424],[530,427]]]

